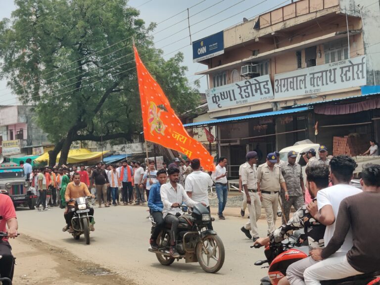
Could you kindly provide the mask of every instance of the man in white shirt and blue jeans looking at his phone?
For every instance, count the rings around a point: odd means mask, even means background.
[[[218,160],[218,165],[216,166],[214,172],[212,173],[212,180],[215,182],[215,190],[218,196],[218,216],[220,220],[226,220],[223,216],[224,208],[227,204],[228,195],[228,182],[227,182],[227,158],[220,157]]]

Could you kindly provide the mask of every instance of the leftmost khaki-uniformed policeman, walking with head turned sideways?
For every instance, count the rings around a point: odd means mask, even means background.
[[[252,231],[253,241],[259,238],[257,229],[257,221],[261,215],[261,201],[257,193],[257,153],[250,151],[246,154],[247,162],[241,168],[241,185],[247,199],[247,206],[249,211],[249,222],[246,223],[240,230],[247,238],[252,238],[249,231]]]

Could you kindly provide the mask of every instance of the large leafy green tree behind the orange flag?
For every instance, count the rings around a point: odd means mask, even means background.
[[[163,59],[139,11],[127,0],[15,0],[12,21],[0,22],[0,77],[55,143],[65,163],[73,141],[124,138],[142,129],[132,39],[140,56],[181,113],[198,103],[183,54]]]

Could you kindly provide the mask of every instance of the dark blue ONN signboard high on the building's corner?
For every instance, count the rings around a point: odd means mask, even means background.
[[[192,61],[198,62],[224,53],[223,31],[192,42]]]

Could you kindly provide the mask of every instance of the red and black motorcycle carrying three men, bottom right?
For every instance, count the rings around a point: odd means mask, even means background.
[[[307,241],[306,241],[307,243]],[[259,248],[262,245],[255,244],[252,247]],[[309,246],[299,243],[294,236],[285,238],[281,243],[267,245],[264,249],[267,259],[255,262],[256,266],[268,263],[268,276],[260,280],[260,285],[277,285],[286,276],[287,267],[303,258],[308,257]],[[351,276],[338,280],[321,281],[321,285],[380,285],[380,273],[369,273]]]

